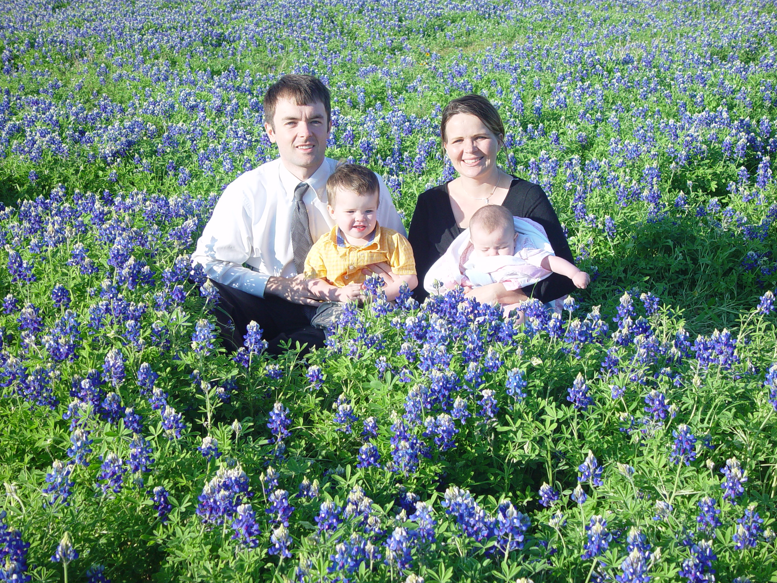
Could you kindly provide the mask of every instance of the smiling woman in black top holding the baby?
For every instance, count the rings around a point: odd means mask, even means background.
[[[488,99],[479,95],[453,99],[443,110],[440,135],[445,154],[459,176],[418,197],[408,235],[418,281],[423,281],[429,267],[469,226],[475,211],[486,204],[501,204],[516,217],[538,222],[545,228],[554,253],[573,263],[559,218],[542,187],[511,176],[497,166],[497,153],[504,145],[504,125]],[[474,288],[467,295],[483,303],[510,304],[528,298],[551,302],[573,289],[569,278],[554,273],[535,285],[512,292],[497,283]],[[415,295],[423,301],[428,294],[419,285]]]

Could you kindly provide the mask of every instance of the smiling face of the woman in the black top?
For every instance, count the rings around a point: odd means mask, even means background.
[[[496,136],[479,117],[456,113],[445,126],[445,152],[462,176],[488,176],[497,165],[502,136]]]

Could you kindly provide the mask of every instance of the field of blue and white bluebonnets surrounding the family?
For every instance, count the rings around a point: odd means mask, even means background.
[[[0,580],[777,580],[772,2],[0,4]],[[407,221],[488,96],[594,283],[225,354],[187,253],[284,72]]]

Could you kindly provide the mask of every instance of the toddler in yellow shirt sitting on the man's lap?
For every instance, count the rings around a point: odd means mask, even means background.
[[[410,289],[418,285],[410,243],[378,225],[379,189],[378,176],[358,164],[339,166],[326,182],[327,210],[336,224],[313,243],[305,259],[308,289],[325,301],[316,312],[314,326],[328,327],[341,302],[363,298],[362,270],[371,264],[389,264],[398,276],[384,288],[389,301],[399,295],[402,283],[407,282]]]

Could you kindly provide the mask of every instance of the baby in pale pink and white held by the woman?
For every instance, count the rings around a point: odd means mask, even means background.
[[[578,288],[591,282],[588,274],[556,257],[542,225],[510,215],[503,206],[488,204],[469,221],[469,229],[427,272],[423,287],[435,293],[434,281],[445,288],[462,285],[465,291],[481,285],[503,284],[507,290],[524,288],[548,277],[566,275]],[[505,316],[518,304],[503,305]]]

